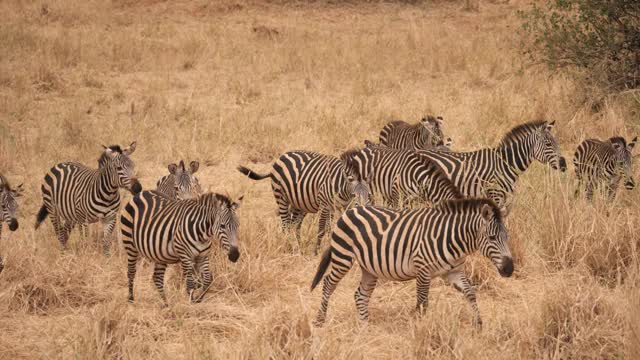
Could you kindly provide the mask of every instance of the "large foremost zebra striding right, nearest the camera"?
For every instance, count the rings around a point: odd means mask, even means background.
[[[313,291],[331,267],[324,277],[316,324],[324,323],[329,297],[357,261],[362,270],[355,293],[360,320],[369,319],[369,299],[378,278],[416,279],[416,310],[423,314],[431,280],[446,276],[467,298],[475,324],[481,328],[475,290],[463,272],[465,257],[476,250],[493,262],[500,275],[511,276],[507,230],[490,200],[449,200],[436,208],[402,211],[369,206],[350,209],[334,227],[331,247],[322,255],[311,284]]]

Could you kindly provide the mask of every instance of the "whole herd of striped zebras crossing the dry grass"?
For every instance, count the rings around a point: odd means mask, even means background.
[[[482,320],[476,295],[462,271],[467,255],[480,251],[505,277],[514,271],[504,218],[508,216],[518,177],[538,161],[559,171],[567,164],[552,134],[554,122],[535,121],[511,129],[493,148],[471,152],[451,150],[443,132],[443,118],[426,116],[417,124],[387,124],[379,143],[365,141],[340,157],[310,151],[282,154],[266,174],[245,166],[238,170],[252,180],[271,180],[281,227],[300,241],[301,225],[309,213],[320,213],[314,253],[331,232],[329,247],[320,258],[311,285],[323,281],[316,324],[326,317],[328,302],[338,282],[358,263],[362,270],[355,292],[358,317],[367,320],[368,303],[378,278],[416,279],[416,311],[428,304],[431,280],[445,277],[463,293]],[[597,189],[608,199],[620,182],[635,187],[632,152],[637,137],[583,141],[574,154],[578,188],[591,199]],[[78,162],[53,166],[42,184],[42,206],[36,229],[50,217],[63,249],[74,227],[104,226],[103,252],[108,255],[112,232],[121,208],[120,189],[133,194],[120,212],[120,232],[127,254],[128,299],[134,300],[138,261],[154,262],[153,282],[163,302],[164,275],[179,263],[192,302],[200,302],[213,277],[209,253],[219,241],[228,259],[240,257],[239,220],[242,203],[203,193],[194,175],[199,163],[183,161],[168,166],[169,174],[155,190],[142,190],[131,155],[136,143],[104,147],[94,169]],[[18,229],[17,198],[22,185],[12,187],[0,175],[0,235],[2,223]],[[376,199],[381,203],[374,204]],[[334,221],[336,212],[340,214]],[[85,231],[86,232],[86,231]],[[0,257],[0,272],[4,267]],[[328,273],[327,273],[328,272]],[[325,276],[326,274],[326,276]]]

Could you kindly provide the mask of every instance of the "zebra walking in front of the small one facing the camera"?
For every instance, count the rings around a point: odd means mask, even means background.
[[[160,297],[164,294],[167,265],[180,263],[192,302],[200,302],[213,278],[209,270],[212,240],[220,241],[231,262],[238,261],[238,217],[242,197],[237,202],[220,194],[207,193],[190,200],[172,200],[156,191],[135,195],[120,215],[122,242],[127,252],[129,302],[133,302],[133,282],[140,256],[155,263],[153,282]],[[203,290],[195,297],[195,278],[202,274]]]

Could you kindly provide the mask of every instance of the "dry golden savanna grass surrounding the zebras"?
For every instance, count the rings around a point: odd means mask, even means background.
[[[0,358],[639,358],[637,190],[590,204],[573,198],[571,164],[535,164],[507,223],[514,277],[479,255],[468,267],[481,333],[442,281],[421,319],[413,282],[380,284],[358,324],[355,269],[315,329],[317,218],[301,254],[278,231],[268,181],[234,170],[267,170],[292,149],[339,154],[425,113],[444,116],[458,150],[538,118],[556,120],[568,160],[586,137],[638,134],[633,93],[594,102],[572,78],[522,65],[515,12],[527,2],[476,5],[0,2],[0,171],[26,187],[21,227],[0,242]],[[245,194],[242,256],[214,251],[202,304],[171,268],[161,308],[147,262],[128,304],[119,236],[103,257],[100,226],[89,239],[74,232],[66,252],[49,221],[33,230],[53,164],[97,166],[101,144],[133,140],[146,188],[168,163],[197,159],[205,189]]]

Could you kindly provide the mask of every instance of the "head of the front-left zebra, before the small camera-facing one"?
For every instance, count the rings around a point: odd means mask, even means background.
[[[240,257],[240,251],[238,251],[238,216],[236,210],[242,204],[242,198],[240,196],[237,201],[233,202],[231,199],[220,194],[205,194],[200,197],[207,202],[208,206],[213,206],[211,215],[213,216],[211,228],[208,230],[207,236],[218,238],[222,249],[227,252],[229,261],[236,262]]]

